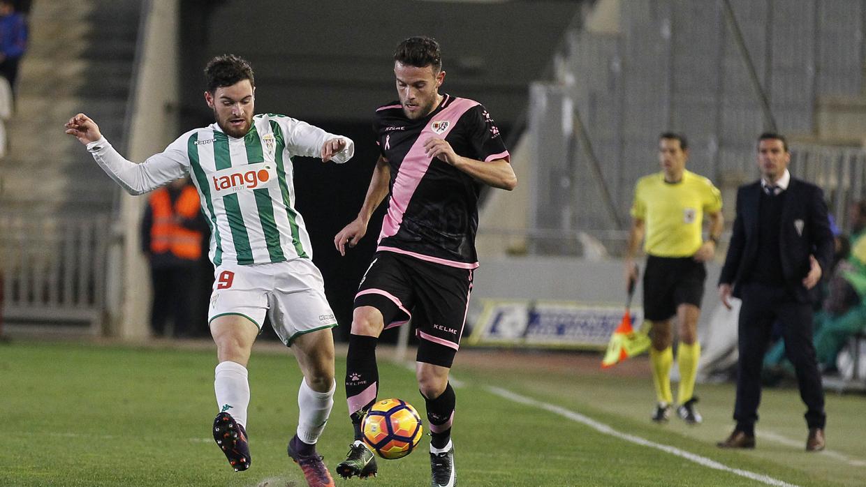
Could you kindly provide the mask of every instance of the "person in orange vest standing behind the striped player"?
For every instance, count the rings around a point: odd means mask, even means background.
[[[165,336],[170,319],[173,336],[196,334],[191,319],[200,294],[198,261],[207,232],[198,192],[188,178],[152,192],[141,223],[141,243],[151,263],[155,336]]]

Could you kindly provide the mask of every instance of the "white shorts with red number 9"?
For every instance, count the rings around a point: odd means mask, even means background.
[[[262,330],[265,313],[282,343],[337,326],[319,268],[309,259],[275,264],[223,264],[214,271],[208,324],[216,317],[240,315]]]

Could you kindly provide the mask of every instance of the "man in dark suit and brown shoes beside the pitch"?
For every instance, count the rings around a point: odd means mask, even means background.
[[[722,448],[754,448],[761,366],[772,324],[782,324],[785,350],[797,372],[809,436],[806,450],[824,449],[824,388],[812,344],[814,287],[830,268],[833,235],[824,192],[791,177],[785,138],[764,133],[758,139],[761,178],[740,187],[737,216],[719,279],[721,302],[742,299],[739,324],[737,400],[734,433]],[[733,286],[733,288],[732,288]]]

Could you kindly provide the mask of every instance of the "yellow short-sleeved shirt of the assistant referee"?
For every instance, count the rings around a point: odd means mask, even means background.
[[[665,183],[663,172],[638,179],[631,216],[644,221],[644,252],[656,257],[690,257],[703,243],[704,212],[720,210],[719,189],[708,178],[685,170],[679,183]]]

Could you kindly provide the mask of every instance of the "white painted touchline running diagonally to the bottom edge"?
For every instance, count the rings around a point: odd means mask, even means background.
[[[715,460],[711,460],[710,458],[701,457],[700,455],[695,455],[695,453],[680,450],[679,448],[675,448],[674,446],[662,445],[661,443],[656,443],[655,441],[650,441],[649,439],[643,439],[633,434],[618,432],[617,430],[611,428],[611,426],[607,426],[604,423],[593,420],[588,416],[584,416],[581,413],[575,413],[574,411],[565,409],[565,407],[554,406],[553,404],[547,404],[546,402],[530,399],[528,397],[522,396],[520,394],[515,394],[503,388],[488,387],[487,390],[507,400],[513,400],[514,402],[518,402],[520,404],[539,407],[540,409],[544,409],[551,413],[559,414],[560,416],[563,416],[569,420],[577,421],[578,423],[589,426],[592,429],[598,431],[598,433],[604,433],[618,439],[624,439],[625,441],[634,443],[636,445],[650,446],[650,448],[656,448],[656,450],[661,450],[662,452],[668,452],[671,455],[685,458],[689,461],[695,462],[698,465],[703,465],[705,467],[709,467],[715,470],[728,471],[734,473],[735,475],[739,475],[740,477],[751,478],[752,480],[756,480],[758,482],[762,482],[768,485],[777,485],[779,487],[797,487],[795,484],[788,484],[787,482],[779,480],[778,478],[769,477],[766,475],[755,473],[753,471],[731,468],[727,465],[722,465]]]

